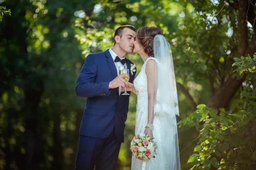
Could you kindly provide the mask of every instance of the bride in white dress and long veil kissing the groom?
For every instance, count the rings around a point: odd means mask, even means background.
[[[143,161],[132,156],[131,170],[180,170],[179,109],[170,44],[160,28],[143,27],[137,31],[134,53],[144,61],[134,85],[127,88],[137,95],[135,135],[154,137],[157,155]]]

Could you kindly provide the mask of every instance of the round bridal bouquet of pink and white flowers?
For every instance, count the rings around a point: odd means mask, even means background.
[[[140,160],[155,158],[157,142],[153,139],[144,133],[134,136],[130,147],[133,156]]]

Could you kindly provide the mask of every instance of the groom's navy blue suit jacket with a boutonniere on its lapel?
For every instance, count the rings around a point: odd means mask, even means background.
[[[136,74],[131,75],[131,64],[127,59],[129,82]],[[116,77],[116,66],[108,50],[87,56],[76,84],[76,95],[87,98],[79,135],[105,139],[115,127],[117,141],[124,142],[129,96],[123,96],[123,92],[119,96],[118,88],[108,89]]]

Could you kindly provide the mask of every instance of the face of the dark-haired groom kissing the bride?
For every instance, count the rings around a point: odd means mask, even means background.
[[[122,37],[119,39],[119,47],[127,53],[131,53],[134,50],[135,40],[136,32],[129,28],[124,28]]]

